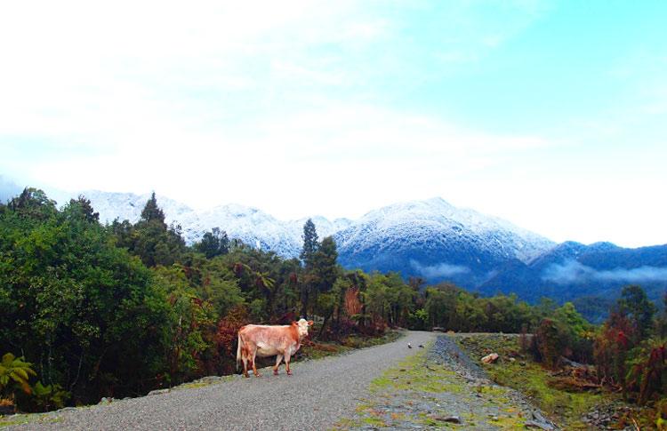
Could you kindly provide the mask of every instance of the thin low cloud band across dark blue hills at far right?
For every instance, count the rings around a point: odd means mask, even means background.
[[[614,269],[598,270],[587,267],[574,259],[561,264],[551,264],[542,272],[542,280],[558,284],[598,282],[665,282],[667,281],[667,267],[634,267],[631,269],[616,267]]]

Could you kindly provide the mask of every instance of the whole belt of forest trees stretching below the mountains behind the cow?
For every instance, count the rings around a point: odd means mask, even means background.
[[[59,208],[26,188],[0,204],[0,407],[48,411],[229,374],[242,325],[299,317],[316,321],[311,339],[337,343],[387,328],[533,333],[545,368],[594,364],[600,384],[637,403],[667,394],[667,318],[637,285],[596,326],[569,302],[344,269],[310,220],[299,259],[223,228],[188,245],[155,194],[136,223],[106,225],[84,196]]]

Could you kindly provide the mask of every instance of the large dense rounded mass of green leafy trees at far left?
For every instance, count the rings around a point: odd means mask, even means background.
[[[78,205],[46,219],[21,205],[0,215],[0,345],[37,363],[45,383],[95,401],[141,390],[160,368],[167,303]]]

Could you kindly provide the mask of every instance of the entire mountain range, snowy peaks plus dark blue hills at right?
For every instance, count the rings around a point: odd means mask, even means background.
[[[82,194],[103,223],[138,220],[149,199],[94,190]],[[230,238],[285,258],[299,255],[303,224],[309,219],[279,220],[238,204],[195,211],[159,195],[157,203],[167,223],[181,226],[187,243],[220,227]],[[625,284],[642,285],[659,304],[667,289],[667,244],[627,249],[613,243],[554,243],[441,198],[392,204],[355,220],[310,219],[320,239],[333,235],[339,262],[349,269],[400,271],[406,278],[449,281],[481,294],[516,293],[530,302],[588,299],[583,308],[591,309],[607,305]]]

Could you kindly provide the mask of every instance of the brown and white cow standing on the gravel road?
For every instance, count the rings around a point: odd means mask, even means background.
[[[248,363],[253,363],[253,373],[260,377],[254,364],[255,356],[277,355],[273,373],[277,375],[278,366],[285,357],[287,374],[292,375],[290,357],[299,350],[301,340],[308,336],[308,327],[312,324],[312,320],[306,319],[282,326],[246,324],[238,331],[237,366],[243,361],[243,374],[248,377]]]

